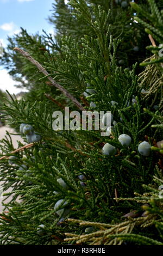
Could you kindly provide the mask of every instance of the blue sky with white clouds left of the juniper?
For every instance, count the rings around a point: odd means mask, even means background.
[[[12,36],[20,31],[20,27],[27,29],[28,33],[53,33],[53,26],[47,21],[51,15],[54,0],[0,0],[0,41],[5,47],[7,35]],[[20,89],[14,88],[15,82],[0,67],[0,89],[8,89],[10,93],[18,93]]]

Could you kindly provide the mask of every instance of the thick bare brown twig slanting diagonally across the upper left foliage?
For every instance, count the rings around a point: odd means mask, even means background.
[[[51,76],[49,76],[46,69],[43,68],[43,66],[41,66],[41,64],[39,62],[37,62],[33,57],[31,57],[28,52],[25,52],[22,49],[17,48],[17,47],[14,48],[14,51],[21,53],[22,56],[26,57],[30,62],[32,62],[37,67],[37,69],[39,69],[43,73],[43,75],[47,76],[48,80],[51,81],[52,86],[58,88],[63,94],[65,94],[66,97],[68,97],[70,100],[72,100],[74,102],[74,104],[80,110],[85,111],[84,107],[80,104],[80,102],[74,96],[72,96],[70,93],[68,93],[64,87],[60,86],[59,83],[57,83],[55,80],[53,80],[53,78]]]

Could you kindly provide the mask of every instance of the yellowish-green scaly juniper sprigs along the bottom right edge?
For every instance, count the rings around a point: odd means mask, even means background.
[[[111,245],[114,242],[114,245],[117,244],[118,239],[115,241],[115,238],[118,237],[123,237],[124,240],[127,239],[127,237],[131,237],[130,240],[139,240],[140,235],[137,234],[132,234],[131,232],[133,231],[134,227],[140,226],[145,223],[149,223],[151,219],[151,216],[147,217],[139,217],[139,218],[130,218],[128,217],[128,221],[124,221],[122,223],[118,223],[115,225],[110,225],[110,224],[104,224],[104,223],[94,223],[94,222],[84,222],[82,220],[74,220],[68,218],[68,222],[72,223],[78,223],[79,225],[88,225],[91,227],[96,227],[98,228],[97,231],[94,231],[93,233],[90,234],[85,234],[85,235],[77,235],[77,234],[71,234],[71,233],[65,233],[66,236],[69,236],[64,239],[64,241],[76,241],[77,244],[80,243],[85,243],[85,242],[99,242],[99,245],[102,245],[103,242],[105,241],[105,245]],[[151,223],[150,223],[151,224]],[[150,239],[149,237],[146,236],[141,236],[143,238],[142,243],[147,242],[147,244],[153,244],[153,245],[162,245],[161,242]],[[114,239],[114,240],[112,240]],[[111,241],[110,241],[111,240]],[[128,240],[128,239],[127,239]]]

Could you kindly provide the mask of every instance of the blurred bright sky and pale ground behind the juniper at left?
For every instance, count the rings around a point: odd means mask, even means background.
[[[26,28],[30,34],[41,34],[42,29],[47,33],[54,34],[53,26],[47,19],[49,11],[52,9],[52,3],[54,0],[0,0],[0,57],[3,54],[2,47],[6,48],[8,45],[8,37],[20,33],[21,27]],[[17,99],[20,99],[26,92],[26,89],[17,87],[19,83],[11,78],[8,71],[4,66],[0,66],[0,140],[5,137],[7,131],[15,133],[1,119],[1,103],[7,97],[5,90],[8,90],[10,94],[15,94]],[[23,142],[18,135],[11,135],[11,138],[15,148],[17,148],[17,141]],[[3,210],[1,200],[0,184],[0,212]]]

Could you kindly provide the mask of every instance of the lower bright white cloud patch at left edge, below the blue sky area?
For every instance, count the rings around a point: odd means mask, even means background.
[[[7,70],[3,69],[0,70],[0,89],[2,89],[3,91],[8,90],[9,93],[20,93],[20,92],[24,92],[23,89],[21,88],[16,88],[14,85],[15,84],[19,84],[18,82],[12,80],[12,78],[9,76]]]

